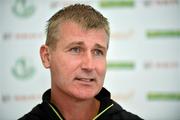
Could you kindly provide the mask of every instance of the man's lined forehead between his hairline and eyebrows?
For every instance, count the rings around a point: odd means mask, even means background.
[[[60,24],[58,31],[59,42],[91,41],[105,47],[108,44],[108,36],[104,29],[86,29],[75,22],[66,21]]]

